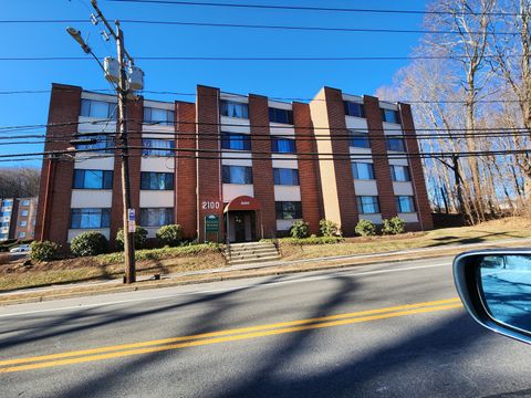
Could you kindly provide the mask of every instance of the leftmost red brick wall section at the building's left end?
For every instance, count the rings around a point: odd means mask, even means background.
[[[44,151],[66,151],[77,132],[81,87],[52,84]],[[74,163],[51,155],[43,159],[35,239],[66,247]]]

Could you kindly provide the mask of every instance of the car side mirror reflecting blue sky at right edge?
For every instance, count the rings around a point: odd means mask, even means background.
[[[478,323],[531,344],[531,250],[462,253],[454,260],[454,279]]]

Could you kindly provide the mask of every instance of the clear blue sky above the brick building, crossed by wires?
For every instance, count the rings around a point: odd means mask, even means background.
[[[218,1],[221,0],[211,0]],[[425,1],[407,0],[233,0],[313,7],[424,10]],[[321,25],[348,28],[420,29],[421,14],[368,14],[253,10],[98,1],[107,19],[176,20],[187,22]],[[3,1],[0,20],[83,19],[90,0]],[[114,54],[113,42],[101,40],[101,25],[75,23],[98,56]],[[65,23],[1,24],[0,57],[82,56]],[[407,56],[420,34],[309,32],[199,27],[123,24],[125,44],[133,56]],[[323,85],[350,94],[373,94],[392,82],[408,61],[341,62],[205,62],[142,61],[145,88],[194,93],[196,84],[232,93],[277,97],[313,97]],[[52,82],[108,88],[93,60],[12,62],[0,61],[0,91],[50,90]],[[45,124],[50,94],[0,95],[0,126]],[[150,95],[174,101],[178,97]],[[192,97],[178,100],[192,101]],[[3,134],[3,133],[0,133]],[[0,154],[40,151],[42,145],[0,146]],[[0,167],[17,164],[0,164]],[[24,164],[40,167],[40,161]]]

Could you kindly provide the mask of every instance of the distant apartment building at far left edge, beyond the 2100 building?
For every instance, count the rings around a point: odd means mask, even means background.
[[[34,239],[38,198],[0,199],[0,242]]]

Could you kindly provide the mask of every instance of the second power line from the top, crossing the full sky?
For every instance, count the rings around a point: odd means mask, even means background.
[[[156,24],[170,27],[202,27],[202,28],[238,28],[238,29],[266,29],[288,31],[316,31],[316,32],[351,32],[351,33],[419,33],[419,34],[461,34],[450,30],[427,30],[427,29],[371,29],[371,28],[344,28],[344,27],[304,27],[304,25],[274,25],[274,24],[250,24],[250,23],[218,23],[218,22],[187,22],[187,21],[156,21],[124,19],[122,23],[132,24]],[[90,23],[86,20],[0,20],[0,24],[15,23]],[[468,34],[482,34],[482,32],[468,32]],[[514,35],[519,32],[491,32],[492,35]]]

